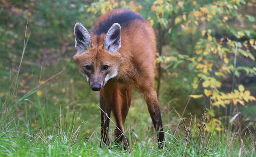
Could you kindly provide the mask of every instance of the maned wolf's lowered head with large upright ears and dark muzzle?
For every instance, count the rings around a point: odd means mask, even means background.
[[[114,23],[106,34],[90,35],[86,28],[75,25],[74,61],[78,70],[94,91],[99,91],[107,81],[118,75],[123,56],[118,52],[121,47],[121,27]]]

